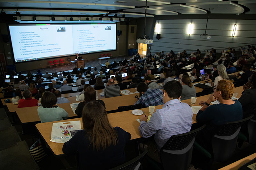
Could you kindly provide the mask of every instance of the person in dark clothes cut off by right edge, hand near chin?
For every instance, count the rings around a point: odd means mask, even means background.
[[[243,107],[243,113],[256,114],[256,73],[248,79],[248,82],[243,86],[244,91],[238,99]]]

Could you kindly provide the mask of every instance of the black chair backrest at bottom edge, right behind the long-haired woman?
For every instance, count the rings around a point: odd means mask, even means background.
[[[139,156],[133,158],[132,160],[122,164],[122,165],[119,165],[119,166],[116,166],[115,168],[112,168],[110,170],[121,170],[121,169],[125,169],[125,170],[135,170],[135,169],[139,169],[140,167],[140,161],[142,159],[144,159],[145,155],[148,153],[148,151],[144,151],[143,153],[141,153]]]

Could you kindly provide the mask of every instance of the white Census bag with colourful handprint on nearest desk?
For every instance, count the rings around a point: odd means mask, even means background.
[[[65,143],[72,138],[72,131],[81,130],[81,121],[52,123],[51,141]]]

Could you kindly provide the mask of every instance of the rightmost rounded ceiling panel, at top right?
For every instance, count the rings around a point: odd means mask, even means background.
[[[187,3],[186,5],[194,6],[208,10],[210,8],[211,13],[217,14],[240,14],[244,12],[244,8],[238,4],[230,1],[225,2],[206,2],[206,3]]]

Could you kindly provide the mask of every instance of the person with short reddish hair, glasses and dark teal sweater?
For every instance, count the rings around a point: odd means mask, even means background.
[[[206,124],[196,141],[205,149],[211,151],[211,139],[216,130],[227,122],[242,119],[242,105],[237,100],[231,100],[234,93],[234,85],[228,80],[220,80],[214,88],[213,94],[207,101],[200,101],[203,106],[196,115],[196,121]],[[211,105],[211,102],[219,100],[220,104]]]

